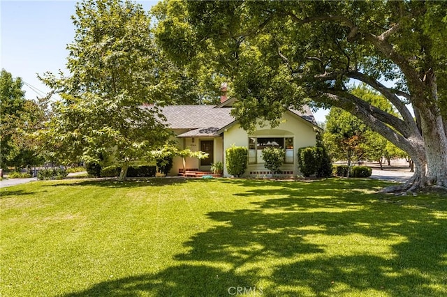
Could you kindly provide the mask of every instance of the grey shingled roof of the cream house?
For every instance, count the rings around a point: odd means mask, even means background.
[[[190,129],[177,137],[216,137],[217,132],[235,121],[231,108],[215,108],[214,105],[168,105],[161,108],[166,123],[172,129]],[[289,109],[313,125],[316,121],[309,107]]]

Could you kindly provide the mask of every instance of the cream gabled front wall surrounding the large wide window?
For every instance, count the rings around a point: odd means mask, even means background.
[[[298,148],[305,146],[315,146],[314,126],[304,119],[298,118],[291,112],[286,112],[281,119],[281,123],[274,129],[267,127],[259,127],[252,134],[247,134],[240,125],[236,124],[233,127],[228,128],[223,133],[223,152],[229,148],[232,144],[235,146],[249,146],[249,137],[293,137],[293,164],[284,164],[281,167],[283,172],[286,172],[287,176],[295,176],[298,174],[298,162],[297,153]],[[258,160],[262,160],[259,153]],[[224,162],[224,176],[229,176],[226,171],[226,160]],[[252,174],[250,174],[252,173]],[[249,164],[245,176],[263,176],[270,174],[269,170],[261,164]]]

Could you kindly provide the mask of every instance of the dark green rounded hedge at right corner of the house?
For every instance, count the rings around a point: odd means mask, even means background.
[[[332,163],[326,150],[319,146],[307,146],[298,149],[298,166],[303,176],[329,177],[332,175]]]

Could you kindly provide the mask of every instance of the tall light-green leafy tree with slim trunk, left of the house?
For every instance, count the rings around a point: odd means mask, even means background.
[[[70,75],[41,77],[61,96],[43,139],[62,162],[108,156],[123,181],[132,160],[149,158],[169,136],[158,109],[165,102],[156,98],[160,57],[151,21],[142,6],[120,0],[82,1],[72,18]]]

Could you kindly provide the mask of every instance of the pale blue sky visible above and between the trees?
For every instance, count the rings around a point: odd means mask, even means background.
[[[149,10],[157,1],[138,1]],[[50,91],[37,75],[49,71],[66,72],[68,50],[73,42],[76,1],[0,0],[0,68],[21,77],[27,99],[45,96]],[[327,111],[314,114],[325,121]]]

